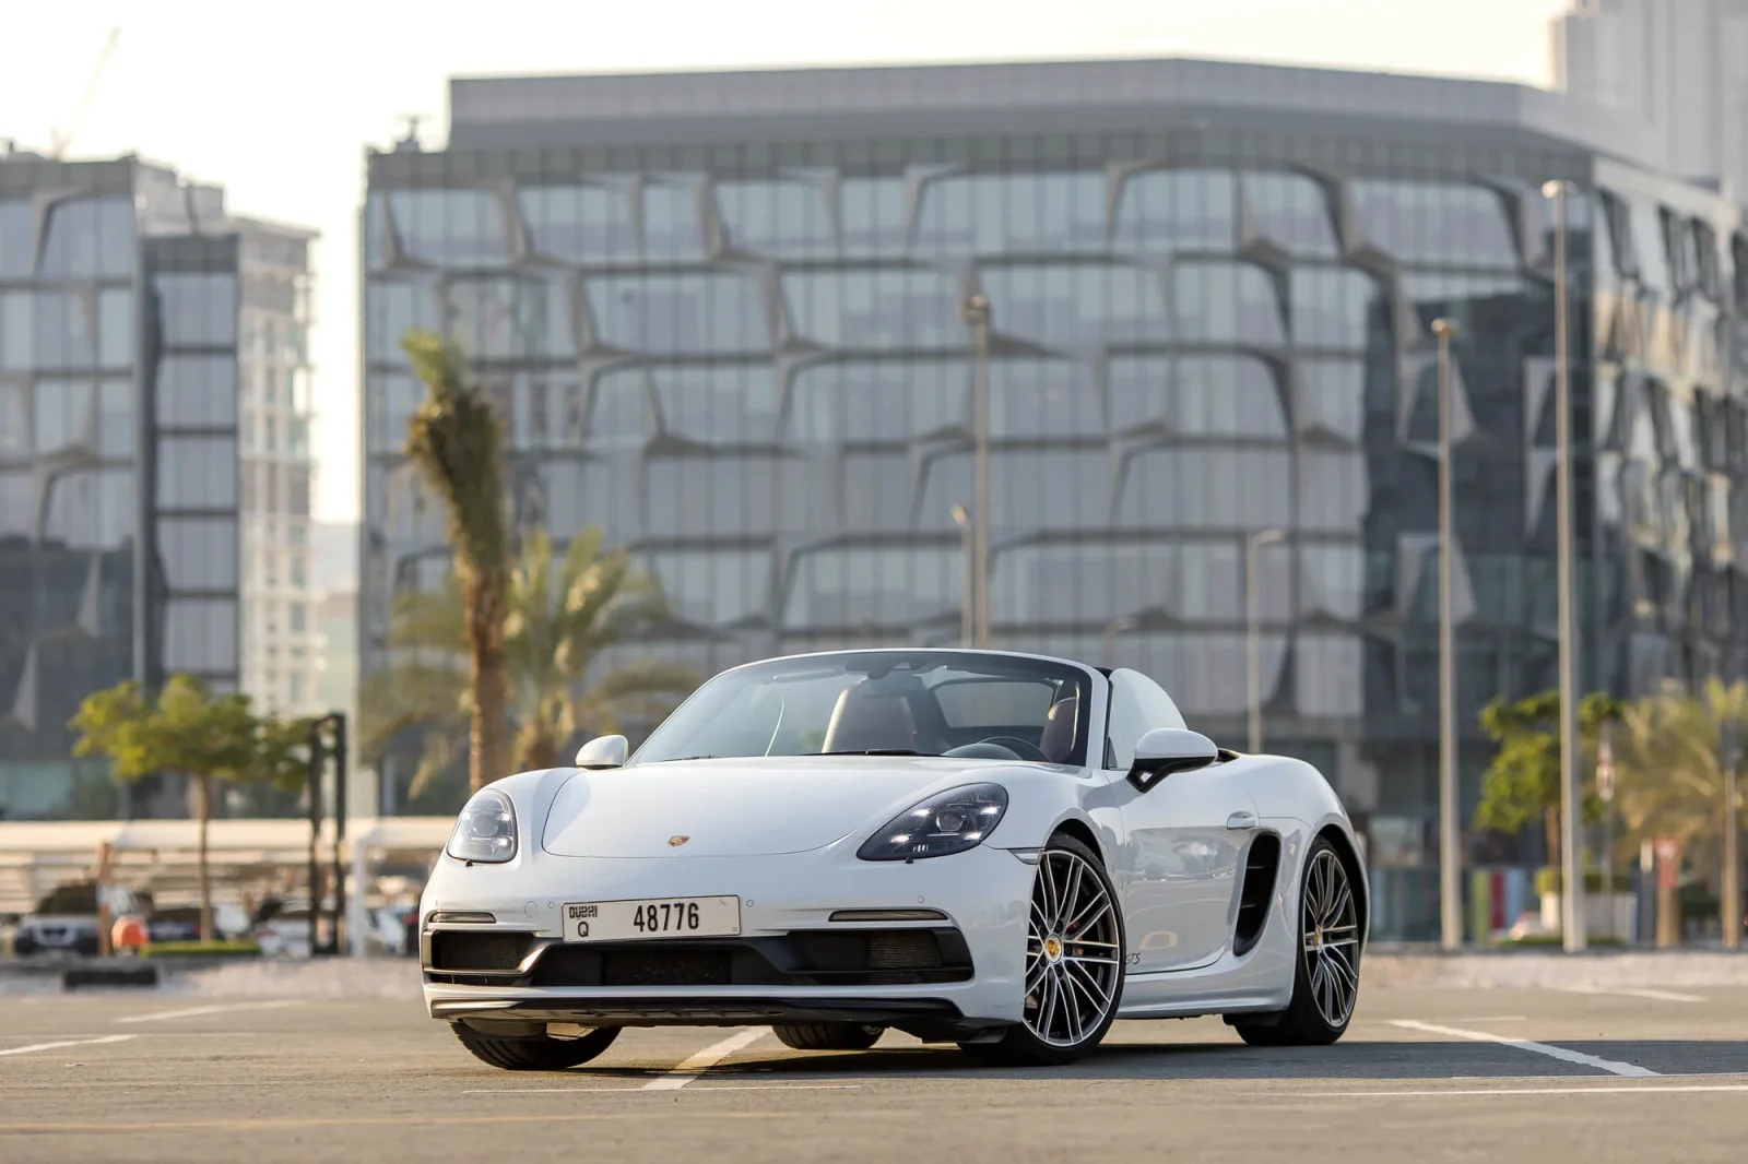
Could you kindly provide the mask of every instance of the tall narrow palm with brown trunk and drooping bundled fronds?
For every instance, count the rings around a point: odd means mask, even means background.
[[[507,774],[509,689],[503,657],[509,615],[509,523],[503,493],[503,425],[491,400],[468,383],[461,350],[430,332],[402,341],[427,397],[407,423],[407,458],[449,514],[454,587],[467,645],[468,785]]]

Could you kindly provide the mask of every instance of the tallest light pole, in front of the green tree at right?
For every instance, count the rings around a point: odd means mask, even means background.
[[[1568,334],[1570,306],[1566,302],[1566,182],[1554,180],[1542,187],[1554,199],[1554,505],[1559,523],[1557,585],[1559,585],[1559,932],[1566,953],[1580,953],[1584,932],[1584,863],[1578,853],[1578,814],[1584,799],[1578,790],[1578,636],[1573,631],[1571,585],[1571,337]]]

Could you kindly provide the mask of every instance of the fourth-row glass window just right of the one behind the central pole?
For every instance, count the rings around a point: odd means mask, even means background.
[[[1287,449],[1148,449],[1129,460],[1119,526],[1266,530],[1292,524]]]

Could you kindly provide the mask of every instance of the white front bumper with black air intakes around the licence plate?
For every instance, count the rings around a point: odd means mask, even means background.
[[[961,1036],[1021,1017],[1033,876],[991,848],[914,863],[860,862],[848,846],[736,858],[537,851],[472,867],[444,856],[420,909],[425,1001],[435,1019],[498,1029],[860,1021]],[[566,902],[729,893],[741,898],[738,939],[561,939]],[[935,916],[844,919],[855,911]],[[446,919],[456,914],[491,921]],[[496,942],[446,937],[463,933]],[[930,935],[937,961],[895,961],[891,951]],[[862,961],[846,949],[864,949]]]

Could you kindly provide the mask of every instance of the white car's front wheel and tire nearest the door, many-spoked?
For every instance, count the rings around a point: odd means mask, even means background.
[[[974,1063],[1002,1068],[1080,1059],[1117,1017],[1124,949],[1122,911],[1105,863],[1075,837],[1051,837],[1038,855],[1026,925],[1026,1017],[996,1042],[960,1049]]]

